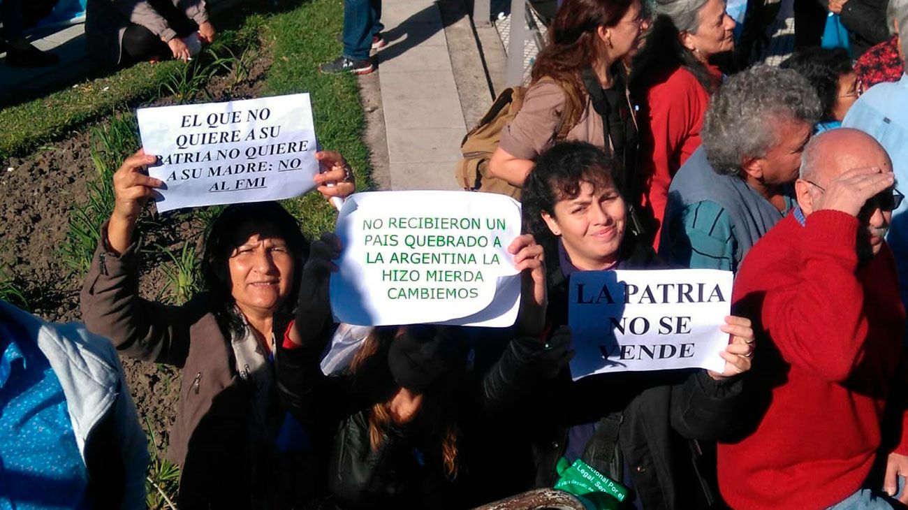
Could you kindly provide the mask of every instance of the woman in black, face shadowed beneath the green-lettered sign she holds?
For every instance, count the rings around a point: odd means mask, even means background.
[[[350,368],[330,376],[322,372],[319,360],[337,326],[331,319],[329,275],[340,250],[333,234],[322,234],[312,243],[301,275],[305,290],[277,357],[286,407],[312,431],[316,456],[328,459],[327,476],[316,482],[330,492],[323,507],[442,509],[485,503],[482,498],[494,492],[489,486],[493,484],[477,480],[471,467],[478,465],[467,458],[478,455],[476,436],[488,436],[489,429],[500,427],[491,418],[491,411],[498,410],[494,391],[482,391],[481,378],[468,370],[469,329],[376,328]],[[532,302],[544,309],[541,247],[523,235],[508,251],[514,254],[515,268],[528,273],[524,306]],[[474,333],[485,335],[482,329]],[[485,338],[474,340],[476,346]],[[498,367],[536,373],[535,358],[522,356],[514,345],[521,341],[508,343]],[[495,485],[508,475],[499,475]]]

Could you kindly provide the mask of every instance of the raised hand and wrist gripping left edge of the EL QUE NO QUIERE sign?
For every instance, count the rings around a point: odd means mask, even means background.
[[[153,197],[156,188],[164,185],[163,181],[145,175],[143,170],[155,162],[157,157],[139,149],[114,172],[114,213],[107,227],[107,248],[114,253],[123,253],[129,247],[135,221],[145,202]]]

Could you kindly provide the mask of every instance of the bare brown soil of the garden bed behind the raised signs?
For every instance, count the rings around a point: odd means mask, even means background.
[[[229,75],[216,76],[206,88],[207,97],[212,102],[258,97],[270,65],[264,56],[256,58],[240,83],[234,83]],[[172,98],[163,98],[151,105],[172,103]],[[81,320],[79,291],[84,275],[73,274],[64,265],[61,247],[70,211],[74,204],[86,201],[87,183],[97,175],[91,159],[92,127],[85,126],[29,156],[12,158],[8,163],[11,170],[0,169],[0,264],[10,270],[32,311],[47,320]],[[157,217],[146,221],[144,228],[140,223],[140,229],[148,250],[153,249],[154,243],[179,250],[183,242],[192,242],[197,252],[201,250],[202,223],[191,213]],[[156,299],[171,293],[165,288],[163,263],[165,259],[158,250],[143,257],[143,297]],[[139,419],[163,454],[180,395],[179,370],[123,357],[121,360]]]

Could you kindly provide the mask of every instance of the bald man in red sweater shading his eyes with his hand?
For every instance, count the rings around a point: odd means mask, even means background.
[[[892,507],[879,489],[894,495],[908,473],[908,421],[893,395],[906,390],[904,309],[883,240],[901,201],[894,182],[870,136],[817,135],[797,207],[738,271],[733,300],[755,322],[755,378],[771,395],[750,436],[719,445],[719,486],[734,508]],[[897,434],[883,427],[887,404]],[[884,484],[868,480],[881,446]]]

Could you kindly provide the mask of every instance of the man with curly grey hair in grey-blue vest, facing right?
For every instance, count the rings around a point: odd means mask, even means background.
[[[801,151],[822,113],[788,69],[756,65],[713,96],[703,145],[668,189],[660,254],[688,268],[732,270],[791,210]]]

